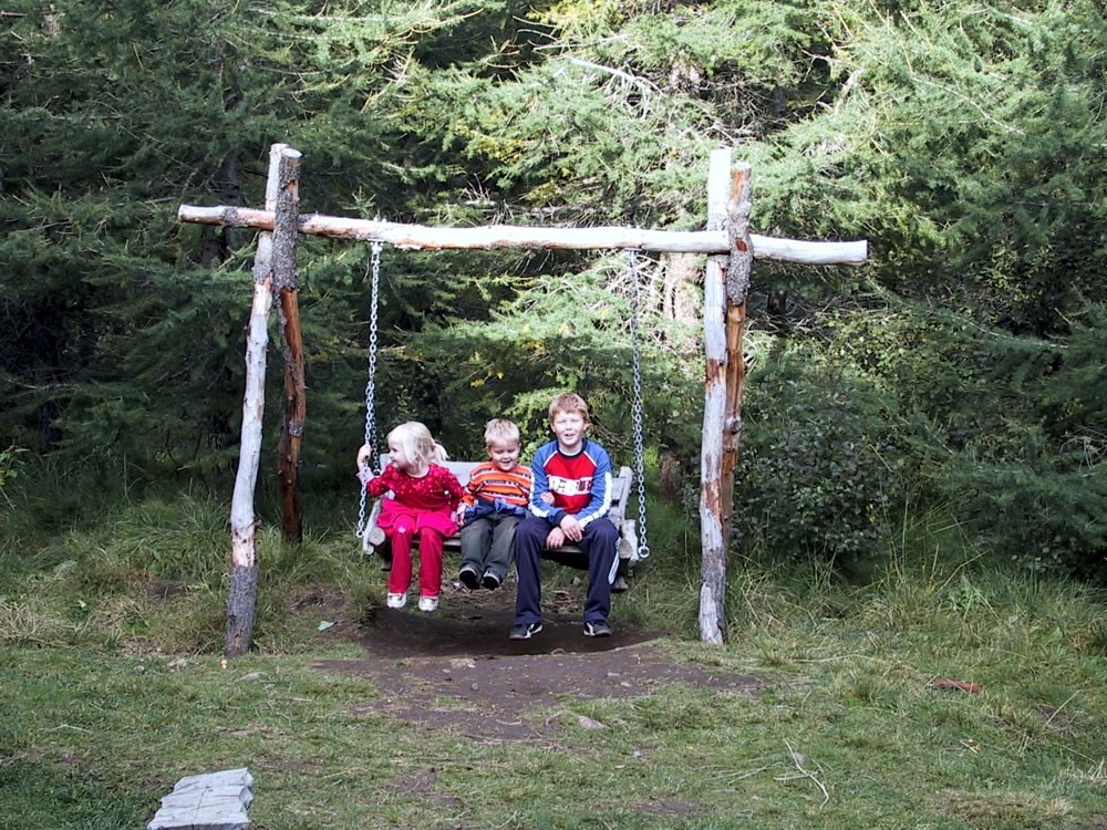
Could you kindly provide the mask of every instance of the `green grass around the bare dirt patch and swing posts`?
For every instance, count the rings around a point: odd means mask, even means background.
[[[656,525],[620,621],[674,632],[673,660],[767,686],[562,698],[520,713],[558,718],[540,743],[374,713],[371,682],[315,666],[364,654],[298,602],[341,595],[355,618],[383,590],[344,533],[284,546],[262,528],[258,647],[230,662],[221,505],[185,495],[2,535],[18,543],[0,542],[0,827],[143,827],[178,778],[241,766],[258,830],[1101,821],[1101,594],[910,546],[861,585],[747,563],[731,573],[730,642],[712,647],[695,639],[696,552]]]

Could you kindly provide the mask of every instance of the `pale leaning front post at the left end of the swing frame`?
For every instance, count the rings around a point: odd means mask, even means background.
[[[269,148],[269,179],[266,184],[266,209],[276,210],[280,168],[287,156],[299,153],[283,144]],[[237,657],[250,650],[254,613],[258,595],[258,561],[255,550],[257,521],[254,490],[261,457],[261,422],[265,414],[266,349],[269,344],[269,310],[273,289],[272,234],[258,235],[254,257],[254,305],[246,333],[246,394],[242,400],[242,435],[230,502],[230,592],[227,596],[227,634],[224,651]]]

